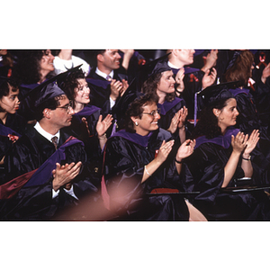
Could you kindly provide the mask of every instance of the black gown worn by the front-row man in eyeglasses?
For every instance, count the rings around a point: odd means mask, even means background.
[[[58,146],[68,138],[64,132],[60,132]],[[31,172],[39,168],[52,154],[55,148],[49,140],[43,138],[40,133],[31,128],[26,135],[14,143],[11,151],[4,159],[6,167],[6,180],[14,179],[18,175]],[[61,164],[82,161],[85,164],[86,155],[84,146],[76,143],[65,149],[65,159]],[[53,164],[55,168],[55,164]],[[49,169],[50,172],[52,169]],[[1,220],[49,220],[65,209],[67,206],[76,205],[78,201],[73,196],[60,188],[59,194],[52,199],[52,177],[42,184],[32,184],[23,188],[11,199],[0,201]],[[95,194],[99,191],[92,184],[82,170],[73,180],[73,189],[78,199],[86,194]]]

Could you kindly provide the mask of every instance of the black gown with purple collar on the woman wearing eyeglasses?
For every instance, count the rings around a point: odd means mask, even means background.
[[[154,159],[162,140],[171,139],[170,133],[159,129],[140,136],[120,130],[114,135],[106,144],[103,173],[109,194],[124,189],[124,203],[116,208],[121,213],[118,220],[188,220],[181,194],[147,195],[157,187],[177,187],[179,178],[172,158],[141,184],[144,166]],[[117,199],[111,199],[112,208]]]

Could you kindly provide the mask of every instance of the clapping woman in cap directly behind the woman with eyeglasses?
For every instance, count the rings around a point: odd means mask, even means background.
[[[174,73],[166,62],[157,61],[155,67],[142,85],[142,92],[154,93],[158,96],[157,107],[160,110],[159,127],[170,131],[174,138],[185,140],[184,121],[187,109],[182,98],[175,96]]]

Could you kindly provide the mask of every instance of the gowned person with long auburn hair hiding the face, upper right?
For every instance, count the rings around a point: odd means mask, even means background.
[[[235,57],[229,62],[229,67],[224,74],[227,82],[238,80],[238,87],[230,88],[229,91],[234,95],[237,101],[239,112],[236,128],[251,134],[252,130],[259,130],[260,140],[254,150],[253,161],[258,167],[261,183],[270,183],[269,170],[270,166],[270,137],[267,132],[266,121],[260,119],[258,106],[254,98],[257,91],[250,83],[252,70],[254,69],[254,55],[250,50],[236,51]],[[261,78],[257,78],[261,81]],[[261,82],[263,84],[263,82]],[[249,85],[249,86],[248,86]],[[257,153],[257,154],[256,154]],[[258,178],[259,179],[259,178]]]

